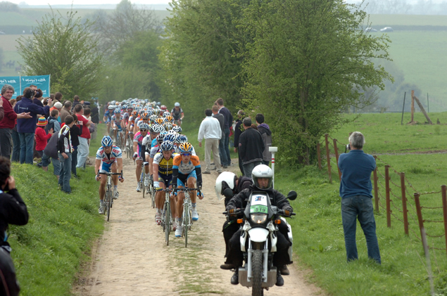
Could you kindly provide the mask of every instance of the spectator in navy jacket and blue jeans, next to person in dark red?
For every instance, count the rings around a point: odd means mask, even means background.
[[[36,131],[37,115],[49,115],[51,101],[49,105],[40,107],[32,103],[31,98],[34,96],[34,91],[29,87],[23,90],[23,98],[15,104],[14,111],[20,113],[23,111],[30,112],[32,118],[17,120],[17,131],[20,139],[20,163],[27,163],[32,165],[32,153],[34,146],[34,131]]]

